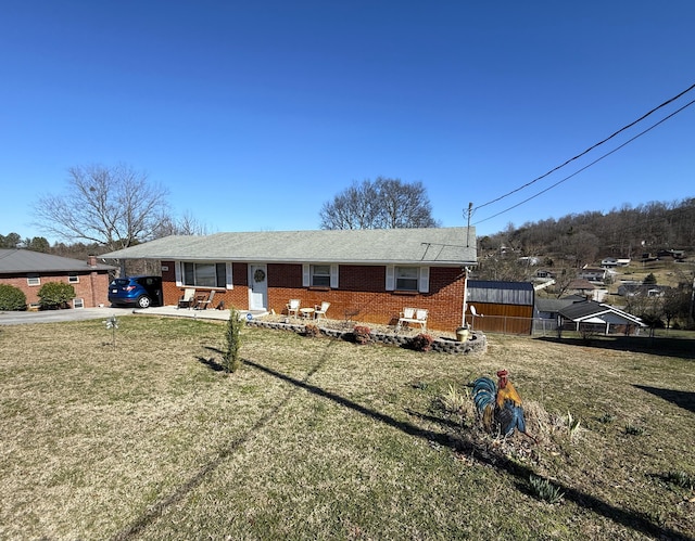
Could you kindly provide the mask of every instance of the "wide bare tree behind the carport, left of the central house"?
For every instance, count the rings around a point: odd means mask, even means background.
[[[87,241],[109,250],[155,236],[167,191],[144,172],[119,164],[68,169],[67,191],[46,195],[35,205],[37,224],[68,241]]]

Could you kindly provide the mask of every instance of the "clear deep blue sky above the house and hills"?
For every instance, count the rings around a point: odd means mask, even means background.
[[[695,195],[695,2],[0,0],[0,233],[67,168],[126,163],[210,232],[318,229],[353,181],[421,181],[478,234]],[[478,208],[480,207],[480,208]],[[501,212],[501,214],[500,214]],[[493,215],[500,214],[494,218]],[[54,239],[49,236],[51,242]]]

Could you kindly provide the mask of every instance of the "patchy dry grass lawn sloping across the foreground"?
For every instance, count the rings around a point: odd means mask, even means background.
[[[248,327],[227,375],[224,324],[118,323],[115,344],[102,321],[0,327],[1,539],[693,536],[692,355],[491,335],[447,356]],[[501,368],[538,443],[480,429],[466,385]]]

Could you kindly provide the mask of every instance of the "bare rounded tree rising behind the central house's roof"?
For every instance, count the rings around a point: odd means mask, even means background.
[[[321,229],[433,228],[432,207],[421,182],[377,178],[353,182],[320,210]]]

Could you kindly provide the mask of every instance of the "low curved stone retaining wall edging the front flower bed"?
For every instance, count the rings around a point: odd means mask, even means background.
[[[298,334],[304,334],[306,330],[305,325],[302,324],[263,321],[256,319],[248,320],[247,325],[263,329],[275,329],[279,331],[291,331]],[[341,331],[338,329],[328,327],[319,327],[319,331],[324,336],[352,342],[352,331]],[[410,340],[413,339],[412,336],[403,336],[391,333],[379,333],[376,331],[370,332],[369,336],[371,337],[371,342],[374,343],[397,347],[408,347]],[[485,335],[480,332],[473,331],[467,342],[458,342],[452,338],[434,338],[431,351],[437,351],[439,353],[465,355],[472,352],[484,352],[486,351],[486,349],[488,339]]]

